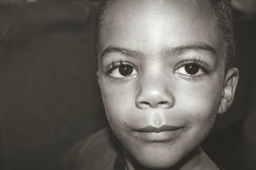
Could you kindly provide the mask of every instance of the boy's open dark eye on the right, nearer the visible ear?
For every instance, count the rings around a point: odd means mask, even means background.
[[[185,76],[200,76],[206,73],[206,68],[200,66],[200,64],[195,62],[182,64],[175,73],[179,73]]]

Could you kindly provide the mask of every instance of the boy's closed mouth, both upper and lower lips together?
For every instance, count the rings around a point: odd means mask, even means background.
[[[183,127],[163,125],[161,127],[147,126],[136,129],[138,136],[145,142],[170,142],[180,137]]]

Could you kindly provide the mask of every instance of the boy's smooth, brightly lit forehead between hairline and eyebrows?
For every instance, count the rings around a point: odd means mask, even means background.
[[[161,50],[205,43],[223,49],[218,27],[203,0],[117,0],[108,9],[100,36],[100,51],[111,46]]]

